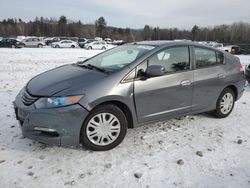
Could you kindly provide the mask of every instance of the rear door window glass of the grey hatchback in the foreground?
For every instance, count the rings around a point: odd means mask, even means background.
[[[214,50],[194,47],[196,68],[210,67],[223,64],[224,55]]]

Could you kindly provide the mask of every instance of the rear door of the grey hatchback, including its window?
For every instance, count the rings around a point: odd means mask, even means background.
[[[193,47],[195,58],[193,111],[211,110],[226,84],[224,54],[205,47]]]

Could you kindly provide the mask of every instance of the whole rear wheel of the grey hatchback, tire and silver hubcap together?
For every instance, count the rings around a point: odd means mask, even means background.
[[[226,100],[226,102],[225,102]],[[226,106],[223,108],[222,103],[224,103]],[[235,103],[235,93],[230,88],[225,88],[216,103],[216,110],[214,111],[214,115],[217,118],[225,118],[227,117],[233,110]]]

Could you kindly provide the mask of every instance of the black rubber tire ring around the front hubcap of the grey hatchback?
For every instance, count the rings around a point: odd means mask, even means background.
[[[119,120],[120,125],[121,125],[121,131],[120,131],[118,138],[114,142],[112,142],[111,144],[109,144],[107,146],[98,146],[98,145],[93,144],[88,139],[87,134],[86,134],[86,128],[87,128],[88,122],[90,121],[90,119],[92,117],[94,117],[96,114],[103,113],[103,112],[104,113],[111,113],[117,117],[117,119]],[[87,148],[89,148],[91,150],[94,150],[94,151],[110,150],[110,149],[113,149],[114,147],[116,147],[117,145],[119,145],[123,141],[123,139],[127,133],[127,127],[128,127],[128,124],[127,124],[126,116],[124,115],[124,113],[122,112],[122,110],[120,108],[118,108],[117,106],[112,105],[112,104],[102,105],[102,106],[95,108],[87,116],[86,120],[83,123],[82,129],[81,129],[80,140],[84,144],[84,146],[86,146]]]

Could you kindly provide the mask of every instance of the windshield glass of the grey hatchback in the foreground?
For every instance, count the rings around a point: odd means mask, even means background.
[[[147,45],[123,45],[101,53],[84,63],[109,71],[118,71],[153,48],[153,46]]]

